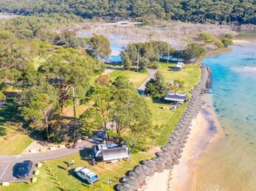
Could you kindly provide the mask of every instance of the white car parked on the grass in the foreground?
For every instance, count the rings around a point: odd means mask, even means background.
[[[94,173],[86,167],[77,167],[74,172],[77,176],[79,176],[84,181],[87,181],[89,184],[94,184],[95,182],[100,181],[97,173]]]

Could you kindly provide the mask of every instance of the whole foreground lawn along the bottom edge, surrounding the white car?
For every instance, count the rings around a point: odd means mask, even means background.
[[[96,166],[89,165],[88,162],[81,159],[80,154],[68,156],[63,159],[56,159],[46,162],[46,165],[40,168],[40,175],[38,176],[38,182],[35,184],[12,184],[10,187],[1,187],[0,190],[60,190],[58,187],[64,190],[114,190],[113,187],[117,184],[117,179],[127,172],[127,170],[133,169],[135,165],[139,164],[139,161],[143,159],[150,159],[153,157],[151,154],[132,154],[130,162],[115,162],[115,163],[98,163]],[[66,171],[66,162],[71,163],[72,159],[75,159],[75,166],[71,166],[69,172]],[[47,168],[48,166],[49,168]],[[75,167],[85,166],[89,167],[100,176],[100,181],[96,184],[86,184],[84,181],[77,179],[73,170]],[[52,172],[55,177],[52,176]],[[57,177],[57,180],[56,180]],[[107,185],[108,179],[112,181],[111,186]],[[60,182],[60,185],[58,185]]]

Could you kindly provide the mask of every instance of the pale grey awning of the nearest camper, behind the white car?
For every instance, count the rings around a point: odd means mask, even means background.
[[[125,147],[104,149],[102,152],[103,152],[103,161],[126,159],[130,157]]]

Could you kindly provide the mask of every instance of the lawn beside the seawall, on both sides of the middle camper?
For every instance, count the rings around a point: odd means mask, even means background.
[[[173,81],[174,79],[183,80],[184,86],[181,87],[179,93],[189,93],[200,79],[201,71],[199,65],[187,65],[187,68],[182,71],[169,71],[169,67],[175,65],[159,63],[159,71],[162,72],[166,82]],[[159,103],[159,101],[149,100],[148,105],[153,115],[153,125],[157,124],[159,126],[159,136],[156,139],[155,145],[165,145],[167,137],[169,137],[184,113],[187,103],[174,111],[162,109],[163,106],[170,106],[170,104]]]

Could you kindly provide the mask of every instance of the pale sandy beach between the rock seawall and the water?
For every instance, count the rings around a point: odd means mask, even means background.
[[[195,190],[194,173],[200,156],[211,143],[212,137],[216,140],[221,131],[218,118],[212,109],[212,95],[204,94],[202,98],[205,104],[191,123],[192,131],[181,154],[179,165],[175,165],[171,172],[165,170],[163,173],[148,177],[147,185],[142,190]]]

